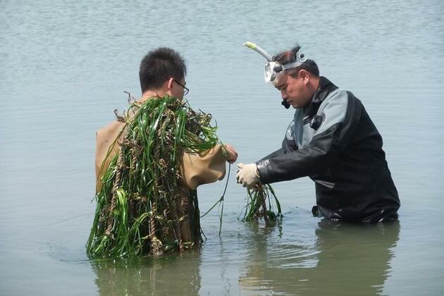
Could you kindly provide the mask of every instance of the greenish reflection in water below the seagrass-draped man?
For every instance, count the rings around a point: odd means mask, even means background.
[[[92,261],[99,295],[197,295],[200,254],[191,250],[154,259]]]

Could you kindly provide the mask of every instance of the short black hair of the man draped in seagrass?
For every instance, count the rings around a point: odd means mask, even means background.
[[[159,47],[149,51],[142,58],[139,68],[142,94],[146,90],[159,89],[169,78],[174,78],[180,82],[186,74],[185,60],[173,49]]]

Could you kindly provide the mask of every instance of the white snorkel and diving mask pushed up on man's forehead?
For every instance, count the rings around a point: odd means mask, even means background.
[[[285,70],[296,68],[302,65],[304,61],[307,61],[307,58],[302,53],[296,54],[296,61],[293,61],[292,63],[285,63],[281,65],[280,63],[273,61],[273,58],[271,55],[264,51],[264,49],[261,49],[261,47],[258,47],[257,44],[254,44],[253,42],[245,42],[245,47],[248,47],[249,49],[253,49],[261,56],[264,56],[264,58],[268,61],[265,65],[264,69],[264,78],[265,82],[271,83],[272,85],[276,86],[279,79],[282,78],[283,72]],[[285,106],[286,109],[290,108],[290,104],[288,104],[287,100],[283,99],[282,101],[283,106]]]

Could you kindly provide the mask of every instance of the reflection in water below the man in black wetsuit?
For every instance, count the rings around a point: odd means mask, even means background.
[[[323,219],[316,240],[297,245],[295,238],[290,248],[269,231],[258,228],[254,234],[239,280],[246,293],[380,295],[400,223],[357,225]]]

